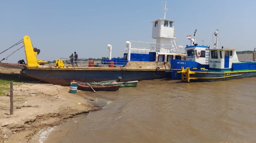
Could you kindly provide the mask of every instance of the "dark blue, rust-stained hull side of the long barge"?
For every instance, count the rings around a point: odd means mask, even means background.
[[[122,77],[121,81],[152,80],[170,78],[171,75],[165,71],[153,70],[41,70],[25,69],[21,75],[35,82],[50,83],[55,85],[69,86],[70,81],[100,82],[114,80]]]

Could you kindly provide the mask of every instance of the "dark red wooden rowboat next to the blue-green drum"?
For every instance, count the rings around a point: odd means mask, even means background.
[[[77,89],[83,90],[83,91],[93,91],[93,89],[95,91],[116,91],[121,87],[120,85],[105,86],[105,85],[91,85],[91,84],[89,86],[87,83],[78,82],[78,81],[74,81],[74,82],[78,83]]]

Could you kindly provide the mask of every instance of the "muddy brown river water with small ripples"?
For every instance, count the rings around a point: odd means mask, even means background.
[[[252,54],[239,59],[251,60]],[[192,83],[147,80],[136,88],[79,94],[105,107],[53,128],[39,142],[256,142],[256,77]]]

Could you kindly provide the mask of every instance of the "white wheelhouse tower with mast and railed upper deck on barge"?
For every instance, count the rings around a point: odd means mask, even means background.
[[[176,45],[175,29],[173,20],[167,20],[166,2],[164,5],[164,19],[157,19],[153,21],[152,27],[152,38],[156,39],[155,42],[143,42],[143,41],[130,41],[131,42],[131,53],[137,54],[148,54],[149,52],[161,52],[161,53],[177,53],[184,54],[185,46]],[[125,53],[128,52],[126,47]]]

